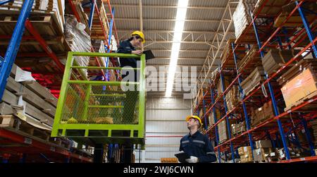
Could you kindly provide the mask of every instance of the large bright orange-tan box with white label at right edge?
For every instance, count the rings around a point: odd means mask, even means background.
[[[311,68],[307,68],[296,77],[292,78],[282,88],[282,95],[285,101],[286,109],[290,109],[293,104],[300,100],[311,97],[317,91],[316,73]]]

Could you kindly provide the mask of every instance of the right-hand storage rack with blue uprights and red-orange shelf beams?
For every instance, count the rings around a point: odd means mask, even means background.
[[[290,66],[295,61],[299,61],[302,56],[307,56],[308,54],[312,54],[316,59],[316,37],[314,37],[314,33],[316,33],[316,18],[309,18],[307,20],[306,16],[311,11],[307,11],[304,8],[303,4],[309,3],[309,1],[295,1],[296,4],[293,6],[292,11],[287,13],[286,17],[283,18],[282,22],[276,28],[273,28],[274,20],[276,20],[280,14],[282,13],[282,6],[289,4],[291,1],[279,1],[280,4],[274,4],[275,1],[263,0],[260,1],[260,6],[257,6],[254,11],[250,12],[251,15],[251,23],[247,25],[247,28],[244,29],[242,35],[235,39],[235,42],[228,42],[227,44],[227,54],[225,54],[225,58],[223,59],[222,65],[218,67],[218,72],[215,71],[215,76],[213,78],[213,82],[209,84],[209,87],[204,90],[203,95],[201,96],[200,101],[197,101],[197,104],[194,106],[193,111],[199,115],[199,110],[204,111],[201,119],[206,121],[208,116],[211,116],[212,112],[215,112],[216,109],[222,113],[220,118],[217,120],[216,114],[213,114],[214,124],[209,125],[209,127],[205,127],[205,132],[209,133],[212,140],[216,141],[215,151],[218,152],[218,162],[220,162],[221,154],[227,154],[228,152],[231,154],[232,161],[235,162],[235,153],[237,147],[242,147],[244,145],[251,146],[252,156],[254,149],[254,142],[256,140],[261,140],[263,138],[268,138],[273,140],[273,138],[282,140],[282,147],[285,149],[286,160],[280,162],[295,162],[295,161],[316,161],[316,154],[313,151],[313,143],[311,137],[309,135],[309,121],[316,118],[316,111],[313,108],[316,108],[316,100],[317,97],[313,96],[309,99],[306,99],[305,102],[301,102],[296,106],[293,106],[291,109],[283,111],[279,113],[279,105],[277,102],[280,102],[281,92],[278,88],[278,84],[276,84],[275,78],[281,75],[283,72],[287,71]],[[258,2],[259,3],[259,2]],[[274,13],[270,13],[268,15],[268,9],[276,8],[278,11]],[[264,10],[263,10],[264,9]],[[275,10],[276,10],[275,9]],[[272,11],[271,11],[272,12]],[[297,16],[300,16],[300,20],[302,20],[302,26],[297,24],[295,27],[285,27],[284,24],[287,23],[287,20],[294,17],[295,13],[298,13]],[[305,13],[305,14],[304,14]],[[253,15],[254,14],[254,15]],[[315,13],[316,14],[316,13]],[[274,20],[272,20],[274,19]],[[264,21],[264,22],[263,22]],[[299,28],[299,30],[297,29]],[[253,28],[253,29],[252,29]],[[266,29],[263,31],[262,29]],[[273,30],[269,30],[273,29]],[[252,42],[250,39],[252,39]],[[303,41],[309,39],[309,42],[303,45]],[[259,86],[254,87],[251,92],[244,94],[242,91],[241,83],[243,79],[246,78],[247,75],[251,73],[252,68],[254,66],[248,65],[248,62],[242,66],[242,68],[238,68],[237,63],[246,56],[247,51],[251,51],[251,45],[253,47],[257,47],[256,49],[256,57],[261,62],[263,59],[264,51],[267,48],[278,48],[278,49],[294,49],[295,47],[302,47],[299,53],[292,57],[287,63],[281,66],[277,71],[266,74],[265,80],[261,82]],[[230,47],[232,47],[230,49]],[[223,56],[223,55],[222,55]],[[217,94],[216,90],[216,82],[220,80],[221,83],[224,83],[225,79],[223,74],[233,72],[236,77],[232,80],[229,85],[222,84],[222,88],[219,91],[220,94]],[[237,85],[240,89],[240,94],[242,95],[242,99],[240,102],[235,104],[232,109],[228,110],[228,106],[226,105],[225,95],[228,94],[229,90],[233,85]],[[273,89],[275,88],[275,89]],[[261,90],[269,90],[267,93],[268,96],[264,97]],[[211,95],[207,97],[207,95]],[[198,99],[197,99],[198,100]],[[259,108],[263,102],[270,101],[273,104],[274,114],[275,116],[268,118],[266,121],[260,123],[255,127],[251,127],[250,125],[250,110],[254,107]],[[206,109],[207,108],[207,109]],[[309,109],[311,108],[311,109]],[[240,111],[238,113],[237,111]],[[309,112],[309,114],[301,114],[297,115],[297,112]],[[228,121],[240,114],[238,120],[244,121],[247,125],[247,130],[238,135],[231,135],[230,133],[230,125]],[[224,142],[219,142],[219,133],[218,126],[221,121],[227,122],[228,129],[228,140]],[[205,124],[206,125],[206,124]],[[297,125],[297,126],[294,126]],[[294,128],[292,128],[294,126]],[[306,146],[309,149],[311,157],[305,157],[300,159],[290,159],[290,152],[288,152],[287,142],[291,142],[288,140],[289,137],[292,137],[292,133],[298,130],[305,130],[306,138],[308,140],[308,145]],[[285,133],[286,131],[286,133]],[[293,137],[292,137],[293,138]],[[299,145],[300,146],[300,145]]]

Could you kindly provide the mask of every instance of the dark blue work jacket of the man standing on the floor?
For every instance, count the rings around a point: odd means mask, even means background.
[[[197,157],[200,163],[217,160],[209,138],[199,131],[193,135],[189,133],[180,140],[180,151],[186,152],[189,156]]]

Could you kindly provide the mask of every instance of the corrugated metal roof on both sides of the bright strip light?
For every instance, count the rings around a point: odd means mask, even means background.
[[[116,20],[116,28],[119,30],[118,36],[121,39],[127,39],[130,32],[139,30],[139,0],[112,0],[111,4],[116,8],[115,20],[120,18],[120,20]],[[228,0],[189,0],[187,20],[184,27],[186,32],[182,36],[185,42],[180,45],[181,51],[179,55],[179,58],[185,59],[178,60],[178,65],[201,66],[204,63],[211,47],[210,44],[216,37],[214,32],[220,25],[220,19],[227,4]],[[173,19],[175,19],[177,13],[177,8],[175,8],[177,5],[178,0],[142,0],[143,30],[147,39],[144,44],[146,46],[145,49],[152,49],[157,58],[164,58],[147,61],[149,65],[163,66],[170,63],[168,58],[170,58],[171,53],[171,41],[173,40],[175,25],[175,20]],[[230,7],[235,6],[236,4],[230,4]],[[232,13],[233,11],[234,9],[232,8]],[[130,20],[125,20],[124,18],[129,18]],[[225,13],[224,18],[230,19],[230,14]],[[229,22],[224,24],[225,28],[227,28],[228,24]],[[222,27],[220,31],[222,32]],[[233,24],[230,31],[234,31]],[[220,42],[222,36],[218,35],[218,37]],[[225,40],[231,37],[234,37],[234,33],[228,34]],[[209,42],[209,44],[206,44],[206,42]],[[225,44],[226,42],[221,47]],[[216,40],[213,45],[217,46]],[[218,56],[220,54],[221,51],[218,52]]]

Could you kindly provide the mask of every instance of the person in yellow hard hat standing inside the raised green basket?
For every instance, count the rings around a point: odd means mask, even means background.
[[[117,53],[121,54],[137,54],[141,55],[142,50],[137,50],[135,48],[142,48],[145,42],[144,34],[141,31],[135,31],[131,33],[131,37],[123,42],[120,42]],[[137,68],[137,60],[139,59],[121,59],[120,58],[120,67],[130,66],[132,68]],[[122,70],[123,81],[126,82],[139,82],[139,77],[137,77],[137,71],[133,70]],[[124,79],[125,78],[125,79]],[[134,90],[128,90],[125,92],[125,106],[123,109],[123,122],[135,123],[134,112],[135,104],[137,102],[137,88],[133,87]]]

